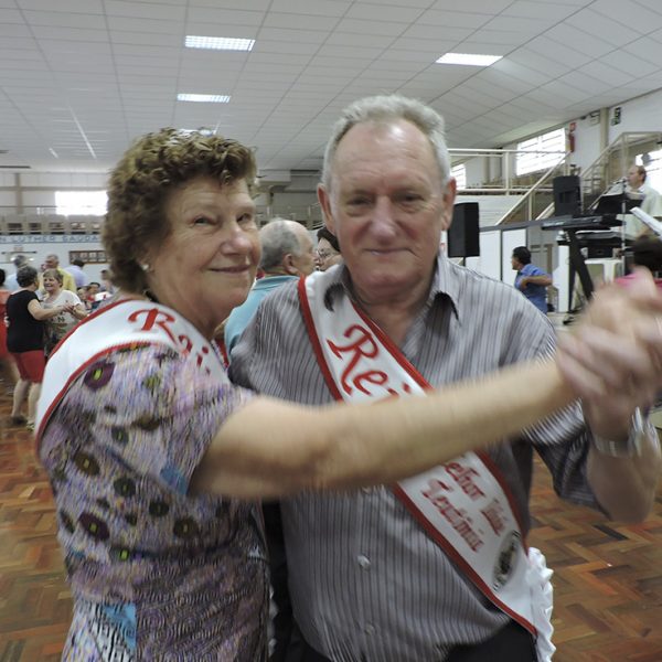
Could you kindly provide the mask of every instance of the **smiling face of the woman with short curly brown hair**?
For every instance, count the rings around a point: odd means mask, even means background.
[[[170,234],[146,261],[158,300],[206,338],[246,299],[259,263],[255,204],[245,181],[191,180],[166,202]]]

